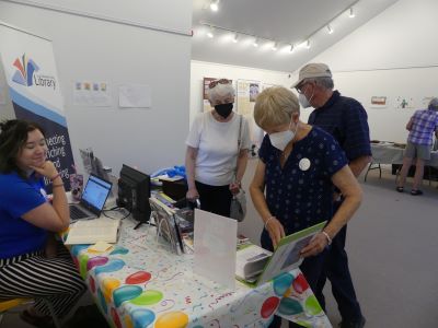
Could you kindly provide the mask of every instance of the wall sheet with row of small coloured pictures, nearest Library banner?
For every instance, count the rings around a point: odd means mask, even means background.
[[[73,85],[73,105],[110,107],[111,94],[107,82],[76,81]]]

